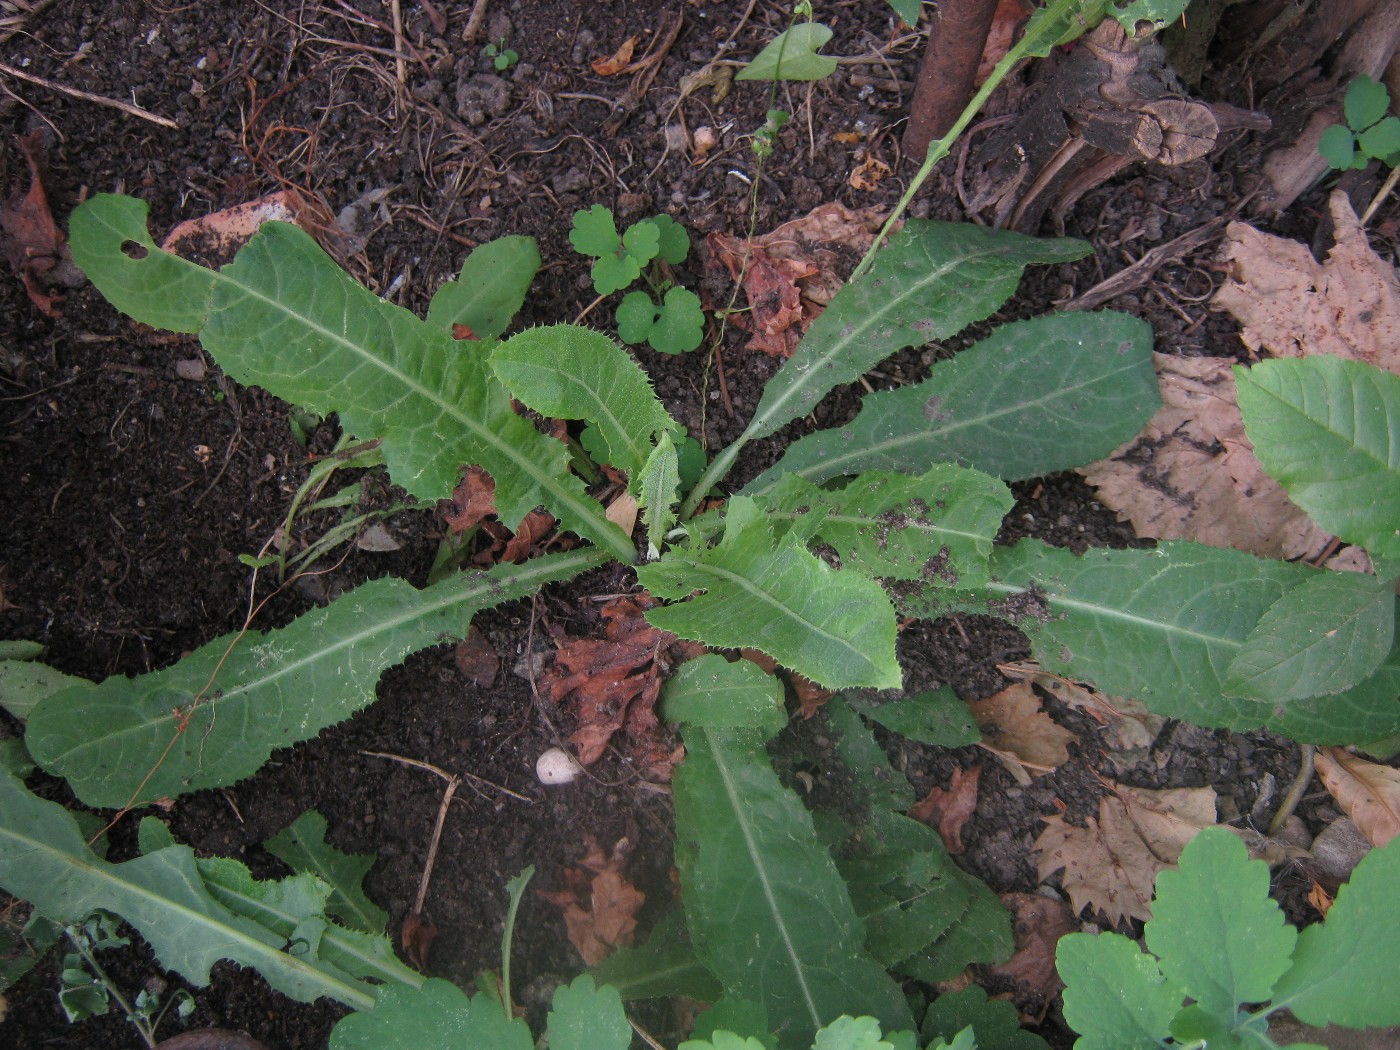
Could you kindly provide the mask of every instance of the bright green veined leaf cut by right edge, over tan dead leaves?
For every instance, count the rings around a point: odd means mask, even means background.
[[[1235,367],[1254,455],[1308,517],[1400,557],[1400,375],[1319,354]]]

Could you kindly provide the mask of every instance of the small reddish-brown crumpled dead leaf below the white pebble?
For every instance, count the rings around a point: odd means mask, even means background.
[[[596,966],[615,948],[631,944],[637,931],[637,909],[647,895],[633,886],[624,872],[631,843],[620,840],[612,855],[591,834],[584,837],[588,853],[577,867],[564,868],[567,889],[540,896],[564,911],[568,941],[584,962]]]

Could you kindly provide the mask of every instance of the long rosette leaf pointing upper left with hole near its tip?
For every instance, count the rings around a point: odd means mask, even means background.
[[[294,225],[265,224],[213,272],[157,248],[146,213],[144,202],[109,195],[73,213],[73,258],[119,309],[199,332],[239,382],[379,438],[391,476],[419,498],[447,498],[459,468],[476,463],[496,482],[508,526],[545,504],[564,528],[633,559],[627,536],[568,473],[566,448],[514,412],[480,347],[357,284]],[[127,255],[130,245],[140,252]]]

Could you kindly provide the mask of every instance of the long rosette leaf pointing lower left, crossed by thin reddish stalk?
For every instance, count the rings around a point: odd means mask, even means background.
[[[379,675],[410,652],[465,637],[476,612],[603,561],[598,550],[549,554],[423,591],[374,580],[279,630],[228,634],[164,671],[50,696],[25,742],[92,806],[232,784],[370,704]]]

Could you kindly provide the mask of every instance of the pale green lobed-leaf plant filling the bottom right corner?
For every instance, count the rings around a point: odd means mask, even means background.
[[[1268,1050],[1268,1019],[1400,1023],[1400,841],[1372,850],[1327,920],[1302,932],[1268,896],[1268,865],[1207,827],[1156,879],[1144,952],[1070,934],[1056,952],[1075,1050]],[[1292,1044],[1292,1050],[1326,1050]]]

